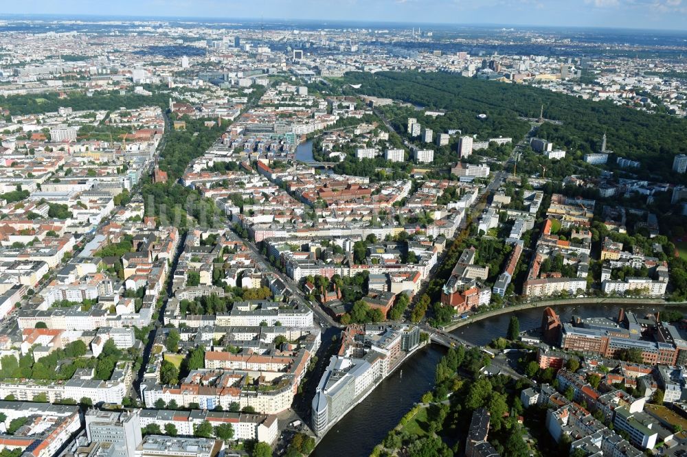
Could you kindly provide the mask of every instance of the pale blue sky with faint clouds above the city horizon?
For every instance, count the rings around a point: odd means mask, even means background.
[[[687,30],[687,0],[0,0],[6,14]]]

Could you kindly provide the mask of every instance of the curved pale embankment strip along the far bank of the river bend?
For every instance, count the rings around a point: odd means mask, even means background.
[[[443,327],[444,331],[453,331],[464,325],[469,325],[475,322],[479,322],[482,319],[491,318],[494,316],[499,316],[501,314],[508,314],[517,311],[523,311],[525,309],[543,308],[548,306],[561,306],[561,305],[575,305],[575,306],[587,306],[587,305],[627,305],[627,306],[641,306],[641,305],[658,305],[658,306],[685,306],[687,302],[675,302],[666,301],[663,298],[621,298],[621,297],[598,297],[598,298],[561,298],[558,300],[542,300],[534,301],[530,303],[521,303],[519,305],[506,306],[498,309],[490,309],[489,311],[474,314],[468,318],[456,320],[455,322],[445,325]]]

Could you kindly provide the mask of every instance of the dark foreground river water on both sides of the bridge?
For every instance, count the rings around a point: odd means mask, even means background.
[[[622,306],[581,305],[554,307],[561,322],[570,322],[572,316],[616,318]],[[638,316],[653,314],[663,307],[629,306],[626,311]],[[487,344],[494,338],[506,336],[510,316],[517,316],[520,329],[530,330],[541,325],[544,308],[502,314],[460,327],[455,335],[473,344]],[[379,444],[387,432],[398,424],[401,417],[419,401],[423,393],[433,388],[434,368],[445,353],[445,349],[431,345],[407,360],[398,371],[385,379],[368,397],[346,417],[341,419],[317,445],[315,457],[350,456],[368,457],[374,446]]]

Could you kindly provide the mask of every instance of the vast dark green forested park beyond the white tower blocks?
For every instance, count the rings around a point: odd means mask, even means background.
[[[477,134],[480,140],[521,139],[530,130],[530,124],[519,118],[538,118],[543,106],[545,119],[562,124],[545,123],[537,130],[537,136],[552,141],[556,148],[567,150],[571,160],[597,152],[601,137],[606,133],[608,150],[642,162],[644,166],[633,170],[634,174],[655,181],[687,184],[687,176],[672,172],[673,156],[687,153],[687,119],[451,73],[354,72],[328,82],[330,86],[323,88],[325,91],[386,97],[447,110],[446,115],[436,118],[423,117],[421,111],[413,113],[413,117],[418,117],[420,124],[425,121],[423,126],[432,128],[435,134],[458,128],[462,134]],[[361,86],[353,89],[349,84]],[[486,119],[477,119],[479,114],[486,114]],[[406,121],[399,116],[392,124],[401,126]],[[565,161],[561,163],[565,165]]]

